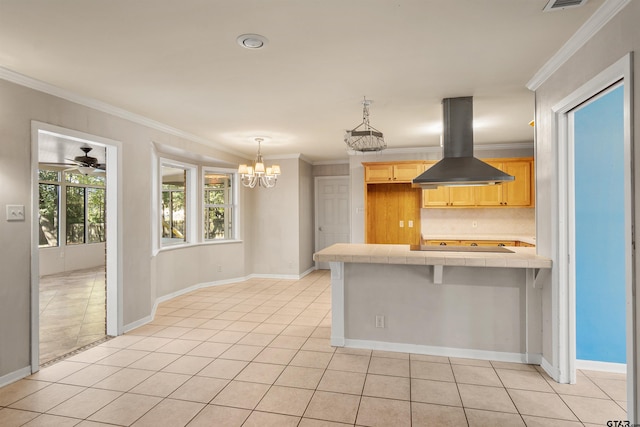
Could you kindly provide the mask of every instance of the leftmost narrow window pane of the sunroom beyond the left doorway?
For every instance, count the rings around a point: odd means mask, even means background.
[[[58,246],[58,228],[60,221],[60,180],[59,172],[39,170],[39,210],[40,236],[39,246]]]

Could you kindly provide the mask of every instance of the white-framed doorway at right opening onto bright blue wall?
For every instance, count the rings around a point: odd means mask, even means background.
[[[553,108],[559,167],[553,315],[555,379],[576,383],[578,369],[626,370],[621,379],[626,378],[627,419],[635,422],[638,328],[633,292],[631,64],[629,54]],[[614,117],[603,123],[603,116],[611,112]],[[607,129],[611,125],[615,129]],[[603,233],[603,245],[597,232]],[[611,252],[617,259],[609,263]],[[609,316],[614,311],[616,315]]]

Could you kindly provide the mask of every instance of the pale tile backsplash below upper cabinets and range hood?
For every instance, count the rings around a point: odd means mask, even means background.
[[[423,236],[535,236],[535,208],[421,209]],[[476,227],[474,227],[474,223]]]

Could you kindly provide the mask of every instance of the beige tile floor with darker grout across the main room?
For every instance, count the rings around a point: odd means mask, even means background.
[[[329,345],[329,273],[251,279],[0,389],[2,426],[580,426],[624,420],[624,375]]]

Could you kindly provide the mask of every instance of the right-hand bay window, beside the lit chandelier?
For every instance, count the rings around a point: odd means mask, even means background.
[[[204,173],[204,240],[234,238],[233,174]]]

